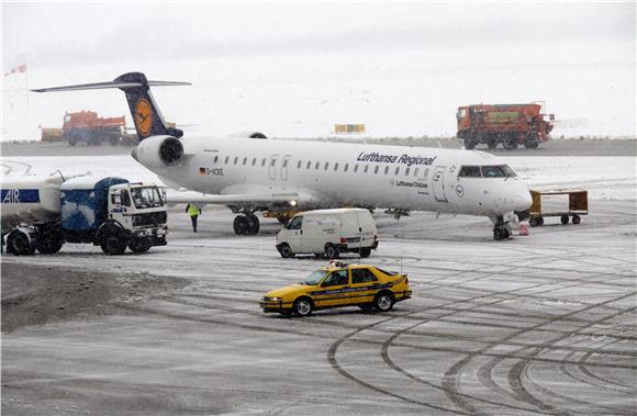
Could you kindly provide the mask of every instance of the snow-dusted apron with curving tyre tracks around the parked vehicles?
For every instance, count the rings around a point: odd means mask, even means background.
[[[125,156],[3,159],[12,173],[23,161],[32,172],[154,179]],[[534,187],[589,189],[591,214],[493,241],[487,218],[377,213],[381,244],[369,262],[407,272],[414,290],[388,314],[262,314],[264,291],[325,261],[281,259],[276,221],[234,236],[224,207],[205,207],[197,235],[171,209],[169,245],[142,256],[87,245],[3,256],[3,269],[81,272],[125,293],[109,313],[3,333],[2,413],[634,414],[636,159],[507,161]],[[139,294],[133,277],[188,283]]]

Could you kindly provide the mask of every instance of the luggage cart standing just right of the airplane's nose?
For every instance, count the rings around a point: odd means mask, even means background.
[[[568,210],[558,211],[543,211],[541,201],[544,196],[568,195]],[[544,218],[548,216],[559,216],[562,224],[569,223],[569,217],[572,223],[578,225],[581,222],[581,215],[589,214],[589,192],[583,189],[567,189],[556,191],[530,191],[533,204],[530,205],[528,224],[532,227],[539,227],[544,225]]]

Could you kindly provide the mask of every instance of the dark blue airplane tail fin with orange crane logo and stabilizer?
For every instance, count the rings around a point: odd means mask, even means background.
[[[149,136],[169,135],[174,137],[183,136],[179,128],[167,125],[153,94],[150,87],[165,86],[190,86],[190,82],[176,81],[149,81],[142,72],[124,74],[112,81],[82,83],[77,86],[41,88],[34,89],[34,92],[55,92],[55,91],[80,91],[80,90],[99,90],[107,88],[119,88],[126,94],[128,109],[135,123],[137,137],[139,142]]]

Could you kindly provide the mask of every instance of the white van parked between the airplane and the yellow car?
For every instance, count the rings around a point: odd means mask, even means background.
[[[369,257],[378,247],[376,223],[368,210],[317,210],[297,214],[277,235],[281,257],[313,254],[336,258],[342,252]]]

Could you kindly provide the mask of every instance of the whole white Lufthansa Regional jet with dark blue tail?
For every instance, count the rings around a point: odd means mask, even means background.
[[[495,240],[511,236],[514,214],[530,207],[528,187],[495,156],[478,150],[248,137],[183,137],[165,122],[142,72],[113,81],[34,89],[35,92],[119,88],[139,144],[132,156],[172,188],[200,192],[171,203],[227,205],[236,234],[257,234],[256,212],[360,206],[488,216]],[[247,136],[247,135],[246,135]],[[266,139],[264,139],[266,138]]]

